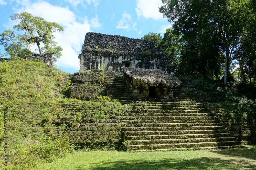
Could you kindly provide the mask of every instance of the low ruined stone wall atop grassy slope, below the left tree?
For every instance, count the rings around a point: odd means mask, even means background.
[[[43,63],[47,64],[48,66],[54,66],[53,56],[51,53],[47,54],[34,54],[33,56],[26,56],[24,59],[28,59],[30,61],[42,61]],[[0,58],[0,61],[3,62],[4,60],[10,61],[10,58]]]

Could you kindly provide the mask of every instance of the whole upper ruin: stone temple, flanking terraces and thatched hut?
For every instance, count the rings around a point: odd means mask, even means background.
[[[118,100],[170,100],[172,88],[181,83],[174,77],[174,67],[167,64],[149,40],[90,32],[78,58],[80,72],[74,74],[74,86],[70,88],[74,98],[107,95]],[[101,83],[95,73],[99,76],[103,70],[106,76],[102,76]],[[122,75],[122,80],[117,80]]]

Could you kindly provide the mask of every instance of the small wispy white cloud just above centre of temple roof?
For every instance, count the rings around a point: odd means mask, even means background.
[[[136,30],[137,23],[132,21],[132,17],[130,14],[128,14],[126,11],[123,13],[123,18],[118,21],[116,25],[117,29],[125,29],[127,31],[130,31],[131,29]]]

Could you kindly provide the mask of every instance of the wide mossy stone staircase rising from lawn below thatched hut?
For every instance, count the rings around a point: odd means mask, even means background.
[[[193,101],[138,102],[120,119],[132,151],[236,148],[247,144],[236,141],[203,104]]]

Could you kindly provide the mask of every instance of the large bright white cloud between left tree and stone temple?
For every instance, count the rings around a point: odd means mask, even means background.
[[[18,12],[26,11],[34,16],[40,16],[46,21],[57,22],[65,29],[63,33],[54,33],[56,37],[55,41],[63,48],[62,56],[58,59],[56,64],[59,67],[79,70],[78,55],[84,43],[84,36],[87,32],[92,32],[91,28],[101,27],[98,16],[90,21],[85,17],[81,22],[77,22],[77,16],[70,11],[68,7],[58,7],[42,1],[37,3],[28,2],[27,4],[19,0],[17,0],[17,2],[23,5],[22,8],[17,10]],[[79,20],[81,20],[81,18],[79,18]],[[12,25],[13,24],[14,21],[12,20]],[[11,24],[8,23],[8,26],[9,25]],[[33,46],[31,49],[36,49],[36,46]]]

